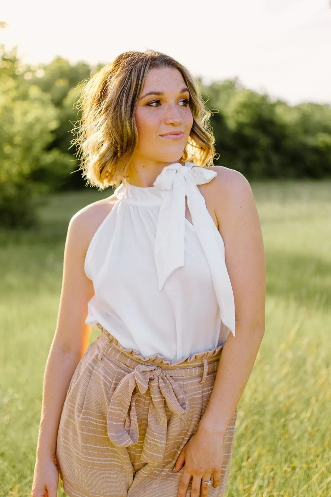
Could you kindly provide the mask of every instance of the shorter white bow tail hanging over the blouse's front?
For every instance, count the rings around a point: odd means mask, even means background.
[[[154,258],[159,291],[170,274],[184,266],[186,185],[180,179],[167,192],[157,221]]]

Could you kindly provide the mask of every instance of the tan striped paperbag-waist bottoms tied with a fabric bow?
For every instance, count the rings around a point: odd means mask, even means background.
[[[188,359],[144,358],[102,331],[72,376],[56,458],[70,497],[177,497],[183,468],[172,468],[197,431],[223,345]],[[237,408],[225,432],[218,487],[229,479]],[[186,497],[191,495],[192,479]]]

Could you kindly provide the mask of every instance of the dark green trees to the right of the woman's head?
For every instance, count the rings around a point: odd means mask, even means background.
[[[247,178],[331,175],[331,107],[290,106],[235,79],[205,87],[216,140],[215,164]]]

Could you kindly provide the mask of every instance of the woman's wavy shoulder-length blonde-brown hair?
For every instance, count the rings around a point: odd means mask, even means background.
[[[169,55],[150,49],[129,51],[83,81],[75,104],[81,115],[73,130],[76,137],[70,143],[76,147],[79,169],[87,184],[99,189],[117,187],[126,177],[138,141],[134,119],[137,101],[149,69],[163,67],[178,69],[190,91],[193,126],[182,160],[196,166],[213,165],[211,112],[202,99],[198,80]]]

